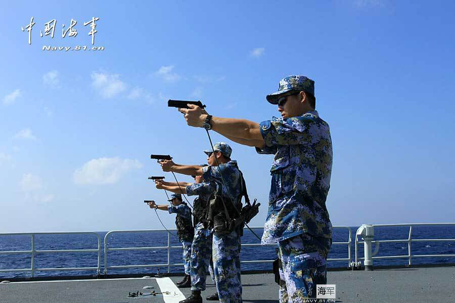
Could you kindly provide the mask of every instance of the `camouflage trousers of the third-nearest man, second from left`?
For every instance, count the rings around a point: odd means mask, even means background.
[[[198,223],[194,228],[191,245],[190,274],[191,290],[205,290],[205,279],[212,258],[212,233]],[[212,276],[212,272],[210,272]],[[214,281],[214,277],[212,276]]]

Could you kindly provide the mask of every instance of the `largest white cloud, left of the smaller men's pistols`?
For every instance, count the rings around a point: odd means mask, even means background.
[[[114,158],[93,159],[73,173],[76,184],[114,184],[133,169],[142,168],[138,160]]]

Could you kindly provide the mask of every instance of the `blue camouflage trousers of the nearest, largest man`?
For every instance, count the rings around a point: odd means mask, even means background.
[[[316,297],[316,285],[327,284],[326,261],[332,246],[331,238],[304,233],[278,244],[281,260],[280,303],[298,303]]]

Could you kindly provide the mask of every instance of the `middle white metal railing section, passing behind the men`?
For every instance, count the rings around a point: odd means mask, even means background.
[[[263,227],[250,227],[251,229],[263,229]],[[351,263],[351,243],[352,243],[352,230],[348,226],[334,226],[335,228],[344,228],[349,231],[349,238],[347,242],[334,242],[334,244],[341,244],[341,245],[348,245],[348,257],[347,258],[338,258],[338,259],[327,259],[328,262],[333,261],[347,261],[348,264]],[[176,229],[168,229],[169,231],[176,231]],[[183,266],[183,263],[171,263],[170,258],[170,250],[171,249],[182,249],[181,246],[171,246],[170,241],[170,234],[167,234],[167,246],[146,246],[146,247],[116,247],[116,248],[109,248],[107,238],[109,235],[115,233],[148,233],[148,232],[157,232],[157,231],[164,231],[163,229],[147,229],[147,230],[114,230],[110,231],[104,237],[104,274],[107,274],[109,269],[125,269],[125,268],[153,268],[153,267],[167,267],[167,272],[170,272],[171,266]],[[242,247],[254,247],[254,246],[261,246],[260,243],[248,243],[242,244]],[[267,244],[267,246],[277,246],[277,244]],[[167,249],[167,263],[165,264],[140,264],[140,265],[115,265],[109,266],[108,265],[108,252],[109,251],[119,251],[119,250],[152,250],[152,249]],[[243,264],[252,264],[252,263],[272,263],[274,260],[249,260],[249,261],[241,261],[240,263]],[[348,265],[349,266],[349,265]]]

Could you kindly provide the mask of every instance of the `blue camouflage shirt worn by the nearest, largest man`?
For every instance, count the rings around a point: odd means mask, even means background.
[[[267,219],[262,243],[301,233],[332,237],[326,208],[332,172],[329,125],[316,111],[259,124],[265,141],[259,154],[274,154]]]

